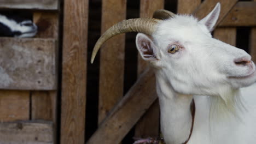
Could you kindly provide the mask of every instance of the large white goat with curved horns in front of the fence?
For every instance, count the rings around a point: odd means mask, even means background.
[[[136,45],[155,70],[167,144],[256,143],[255,65],[245,51],[212,38],[219,12],[218,3],[198,21],[160,10],[155,14],[158,19],[119,22],[95,45],[91,62],[113,35],[141,32]]]

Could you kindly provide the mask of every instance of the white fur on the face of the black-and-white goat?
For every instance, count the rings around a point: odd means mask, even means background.
[[[34,37],[34,35],[37,33],[37,26],[31,20],[16,22],[15,20],[8,19],[7,16],[0,14],[0,22],[9,27],[11,32],[21,33],[19,35],[14,35],[14,37]],[[29,24],[30,26],[26,26],[26,24]]]

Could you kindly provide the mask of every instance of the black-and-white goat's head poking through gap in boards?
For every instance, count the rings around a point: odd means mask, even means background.
[[[37,26],[31,20],[0,14],[0,37],[34,37]]]

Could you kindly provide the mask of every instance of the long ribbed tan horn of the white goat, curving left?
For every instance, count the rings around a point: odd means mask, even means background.
[[[91,63],[94,62],[94,58],[100,49],[101,45],[108,39],[114,37],[115,35],[127,32],[140,32],[148,35],[152,35],[155,32],[158,22],[160,20],[153,18],[138,18],[138,19],[129,19],[123,20],[114,26],[110,27],[106,32],[104,32],[100,39],[94,46],[91,55]]]

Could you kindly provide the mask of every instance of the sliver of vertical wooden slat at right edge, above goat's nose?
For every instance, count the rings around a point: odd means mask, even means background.
[[[254,2],[256,2],[256,0],[254,0]],[[256,63],[256,27],[252,27],[249,43],[249,51],[252,56],[252,61]]]

